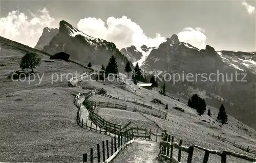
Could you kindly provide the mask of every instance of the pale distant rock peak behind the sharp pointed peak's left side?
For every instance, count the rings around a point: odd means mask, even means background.
[[[46,45],[49,45],[51,39],[58,34],[59,30],[57,28],[45,27],[42,31],[42,35],[38,39],[35,49],[42,50]]]

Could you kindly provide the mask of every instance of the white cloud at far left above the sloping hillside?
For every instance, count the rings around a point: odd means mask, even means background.
[[[38,10],[38,15],[30,12],[30,17],[19,10],[9,12],[0,18],[0,36],[34,47],[45,26],[52,27],[55,21],[49,11]]]

